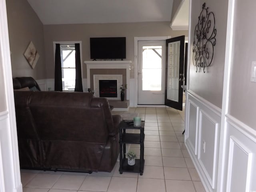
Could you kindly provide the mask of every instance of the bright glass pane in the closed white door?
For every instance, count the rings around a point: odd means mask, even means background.
[[[142,90],[161,91],[162,46],[143,46]]]

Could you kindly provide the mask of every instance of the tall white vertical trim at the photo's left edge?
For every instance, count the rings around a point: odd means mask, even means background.
[[[6,12],[6,1],[0,1],[0,63],[2,63],[3,74],[4,74],[4,88],[7,104],[8,124],[10,128],[10,164],[9,168],[10,174],[12,175],[11,181],[6,181],[12,186],[13,192],[22,192],[22,184],[20,179],[20,162],[18,155],[18,138],[17,138],[17,128],[16,128],[16,116],[14,107],[14,94],[13,94],[13,84],[12,84],[12,68],[11,68],[11,58],[10,58],[10,44],[9,44],[9,34],[8,34],[8,23],[7,23],[7,12]],[[4,174],[7,174],[4,172]]]

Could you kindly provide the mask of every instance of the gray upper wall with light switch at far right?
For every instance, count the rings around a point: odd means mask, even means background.
[[[256,130],[256,83],[250,82],[252,61],[256,61],[256,1],[235,2],[228,113]]]

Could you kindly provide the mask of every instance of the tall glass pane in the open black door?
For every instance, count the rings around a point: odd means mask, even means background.
[[[168,44],[168,82],[167,99],[179,100],[180,41]]]

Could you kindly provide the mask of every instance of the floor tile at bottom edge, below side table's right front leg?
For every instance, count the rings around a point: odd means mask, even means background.
[[[164,179],[139,178],[137,192],[165,192]]]

